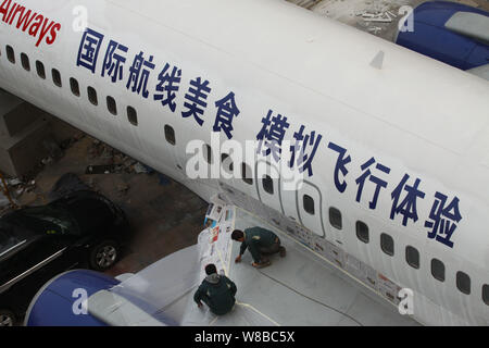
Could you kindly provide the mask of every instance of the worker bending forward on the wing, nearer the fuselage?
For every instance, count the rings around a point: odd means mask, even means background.
[[[235,229],[231,234],[231,239],[241,243],[239,256],[236,258],[236,263],[241,262],[241,257],[247,250],[253,258],[252,265],[256,269],[262,269],[271,265],[272,262],[266,256],[279,252],[280,257],[286,256],[286,249],[280,245],[280,239],[272,231],[262,227],[251,227],[244,229]]]

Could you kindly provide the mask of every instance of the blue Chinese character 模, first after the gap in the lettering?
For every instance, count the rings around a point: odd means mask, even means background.
[[[262,152],[263,156],[268,156],[272,152],[274,160],[278,162],[281,154],[281,142],[290,124],[287,123],[287,117],[283,117],[280,114],[272,117],[272,114],[273,111],[268,110],[266,117],[262,119],[263,127],[256,135],[256,140],[260,140],[258,153]],[[266,149],[262,151],[263,146]]]

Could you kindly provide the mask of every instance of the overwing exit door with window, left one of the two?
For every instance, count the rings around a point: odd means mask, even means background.
[[[284,213],[280,202],[280,181],[278,170],[266,161],[256,162],[256,190],[260,201],[279,213]]]

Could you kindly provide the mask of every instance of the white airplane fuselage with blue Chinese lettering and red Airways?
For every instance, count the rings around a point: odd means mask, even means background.
[[[488,298],[482,295],[489,284],[488,82],[279,0],[0,3],[1,88],[165,173],[204,199],[223,192],[221,183],[225,183],[263,207],[256,213],[269,209],[298,222],[306,228],[312,249],[324,239],[343,252],[344,260],[358,260],[400,288],[413,289],[413,316],[421,323],[489,324]],[[25,10],[15,12],[14,5]],[[88,36],[91,48],[100,44],[95,67],[90,65],[93,55],[85,54],[90,46],[80,45],[87,36],[77,30],[84,8],[92,30]],[[27,22],[18,28],[16,24],[27,10],[37,15],[23,30]],[[115,82],[106,70],[102,76],[111,40],[127,48],[117,46],[126,61],[123,78]],[[9,61],[7,46],[13,49],[15,63]],[[371,62],[379,51],[384,52],[381,69],[373,67]],[[129,80],[140,52],[150,73],[147,98],[143,78],[136,85]],[[23,67],[21,53],[28,57],[30,71]],[[36,61],[43,64],[46,78],[38,75]],[[176,66],[180,78],[175,83],[174,111],[154,98],[166,64],[167,72]],[[60,72],[61,87],[53,83],[53,69]],[[187,95],[198,77],[208,80],[210,88],[199,114],[202,125],[181,114],[188,110]],[[79,96],[72,91],[71,78],[78,83]],[[89,101],[88,87],[97,92],[97,105]],[[233,140],[255,140],[269,110],[273,116],[287,117],[284,140],[293,142],[301,126],[304,135],[315,132],[316,140],[322,136],[311,164],[313,174],[304,173],[300,190],[284,190],[278,181],[269,194],[260,178],[249,185],[238,178],[186,176],[187,144],[200,139],[212,145],[212,134],[220,134],[221,141],[227,139],[223,130],[214,130],[214,124],[220,110],[216,102],[229,92],[240,111],[233,120]],[[116,115],[108,109],[108,96],[116,103]],[[127,107],[136,110],[137,125],[128,121]],[[165,138],[166,125],[174,129],[175,145]],[[344,162],[348,173],[336,170],[339,152],[335,146],[346,150],[344,158],[350,156]],[[220,149],[212,149],[214,158],[221,157]],[[372,158],[372,175],[366,176],[358,201],[359,178],[366,171],[361,166]],[[278,163],[271,153],[258,165],[275,167]],[[376,164],[388,167],[388,173]],[[405,186],[399,186],[405,174]],[[375,178],[386,186],[373,209]],[[341,192],[338,184],[342,183]],[[413,190],[419,196],[410,200]],[[446,209],[438,214],[443,226],[434,233],[435,227],[425,224],[434,222],[430,213],[437,209],[432,208],[440,207],[436,206],[437,192],[447,197],[444,208],[459,199],[461,219],[454,222],[454,210]],[[304,195],[312,198],[313,213],[304,207]],[[341,212],[341,229],[330,223],[331,207]],[[358,236],[358,222],[368,227],[367,243]],[[444,224],[455,226],[451,246],[440,241],[447,237],[441,232]],[[393,254],[383,250],[381,234],[392,238]],[[418,251],[417,269],[406,262],[406,247]],[[444,281],[431,274],[434,259],[444,265]],[[469,294],[459,289],[467,285],[459,272],[468,275]],[[457,278],[463,283],[459,287]]]

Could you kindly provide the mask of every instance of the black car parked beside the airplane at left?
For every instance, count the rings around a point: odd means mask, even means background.
[[[54,275],[73,268],[111,268],[126,236],[124,212],[89,190],[0,217],[0,326],[22,318]]]

